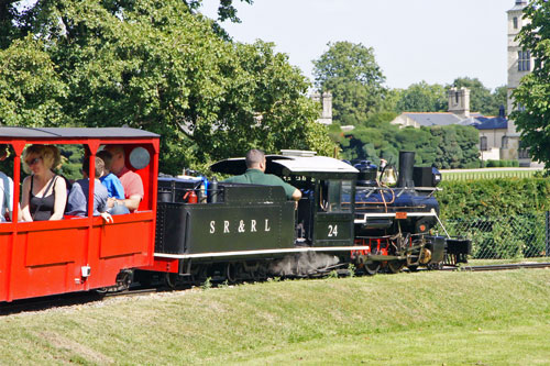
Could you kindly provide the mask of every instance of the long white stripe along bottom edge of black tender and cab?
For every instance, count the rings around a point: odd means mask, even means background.
[[[258,251],[240,251],[240,252],[220,252],[220,253],[197,253],[197,254],[165,254],[155,253],[155,257],[188,259],[188,258],[213,258],[227,256],[246,256],[257,254],[276,254],[276,253],[307,253],[307,252],[348,252],[348,251],[369,251],[367,245],[353,246],[323,246],[323,247],[293,247],[286,249],[258,249]]]

